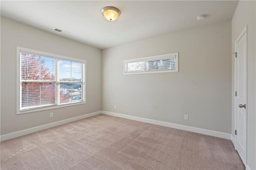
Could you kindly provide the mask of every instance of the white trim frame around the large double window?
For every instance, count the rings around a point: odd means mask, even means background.
[[[82,100],[83,101],[77,101],[77,102],[73,102],[73,103],[63,103],[63,104],[59,104],[58,105],[57,103],[59,103],[58,102],[59,99],[56,99],[56,101],[57,101],[56,104],[44,105],[44,106],[39,106],[39,107],[35,107],[35,108],[31,107],[29,109],[20,110],[20,102],[21,102],[20,92],[22,90],[20,52],[29,53],[29,54],[35,54],[35,55],[44,56],[44,57],[51,57],[51,58],[55,58],[55,59],[62,59],[62,60],[68,60],[68,61],[83,63],[83,65],[84,65],[84,67],[82,67],[82,85],[83,85],[82,90],[83,91],[81,91],[81,95],[82,95]],[[17,88],[16,88],[16,90],[17,90],[16,91],[16,96],[17,96],[17,99],[16,99],[16,101],[17,101],[16,102],[17,114],[30,113],[30,112],[43,111],[43,110],[48,110],[48,109],[56,109],[56,108],[60,108],[60,107],[68,107],[68,106],[86,104],[86,60],[76,59],[76,58],[72,58],[72,57],[67,57],[67,56],[53,54],[53,53],[47,53],[47,52],[44,52],[44,51],[38,51],[38,50],[28,49],[28,48],[18,47],[18,46],[17,46],[16,55],[17,55],[17,75],[16,75],[16,77],[17,77],[17,83],[16,83],[17,84]],[[58,67],[58,65],[57,65],[57,67]],[[56,79],[55,81],[49,81],[49,82],[57,82],[56,83],[56,86],[57,86],[62,81],[57,81],[57,79]],[[70,83],[70,82],[68,82],[68,83]],[[57,90],[56,90],[56,93],[58,93]],[[56,98],[58,98],[57,97],[58,95],[55,95],[55,96],[56,96]]]

